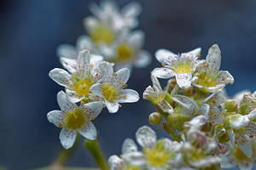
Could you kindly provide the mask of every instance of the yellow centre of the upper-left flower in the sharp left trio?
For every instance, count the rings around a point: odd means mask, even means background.
[[[91,85],[92,84],[89,80],[79,80],[79,82],[75,83],[73,89],[77,94],[79,94],[80,97],[88,96]]]

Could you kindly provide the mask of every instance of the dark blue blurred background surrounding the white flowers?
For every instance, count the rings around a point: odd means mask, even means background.
[[[9,0],[0,3],[0,165],[9,169],[45,167],[61,149],[60,128],[46,114],[59,109],[56,94],[62,90],[48,77],[61,67],[55,49],[74,44],[86,34],[82,20],[90,15],[93,0]],[[119,0],[119,6],[129,3]],[[202,58],[213,43],[222,52],[221,69],[235,77],[229,95],[256,90],[256,1],[254,0],[140,0],[143,13],[138,29],[146,33],[144,48],[153,56],[145,69],[134,69],[128,82],[141,95],[139,102],[124,104],[116,114],[107,109],[94,124],[106,156],[119,155],[125,138],[134,139],[138,127],[148,124],[154,107],[143,100],[151,85],[150,71],[160,66],[158,48],[186,52],[201,47]],[[164,82],[166,83],[166,82]],[[153,127],[153,126],[151,126]],[[155,129],[155,128],[154,128]],[[155,129],[158,136],[166,133]],[[67,166],[95,167],[80,144]]]

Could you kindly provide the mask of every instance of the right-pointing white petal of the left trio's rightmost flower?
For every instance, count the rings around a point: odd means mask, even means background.
[[[139,94],[132,89],[123,89],[119,95],[119,103],[133,103],[139,100]]]

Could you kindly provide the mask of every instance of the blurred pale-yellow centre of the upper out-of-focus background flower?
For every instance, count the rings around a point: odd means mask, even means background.
[[[95,43],[104,42],[110,44],[113,42],[114,35],[113,31],[111,31],[108,27],[99,25],[90,33],[90,37]]]

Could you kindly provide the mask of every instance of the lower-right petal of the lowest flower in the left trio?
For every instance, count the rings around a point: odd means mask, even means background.
[[[92,122],[87,122],[82,129],[79,130],[79,133],[84,136],[86,139],[94,140],[96,139],[97,132],[96,127]]]

